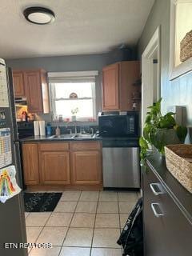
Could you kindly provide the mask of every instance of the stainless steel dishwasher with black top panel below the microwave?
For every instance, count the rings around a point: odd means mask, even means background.
[[[138,138],[103,138],[104,188],[140,188]]]

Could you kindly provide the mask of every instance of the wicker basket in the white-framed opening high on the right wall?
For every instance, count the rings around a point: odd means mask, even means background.
[[[185,38],[180,42],[180,61],[185,62],[192,57],[192,30],[186,33]]]

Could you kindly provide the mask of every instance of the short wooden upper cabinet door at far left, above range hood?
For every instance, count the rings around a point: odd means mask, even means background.
[[[14,79],[14,96],[15,97],[26,97],[24,78],[23,78],[22,71],[21,72],[14,71],[13,79]]]

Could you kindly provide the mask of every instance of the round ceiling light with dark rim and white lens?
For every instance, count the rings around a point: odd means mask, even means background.
[[[23,14],[28,22],[34,24],[45,25],[54,22],[54,12],[44,7],[29,7],[23,11]]]

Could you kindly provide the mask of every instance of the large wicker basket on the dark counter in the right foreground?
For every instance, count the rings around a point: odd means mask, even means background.
[[[166,167],[192,193],[192,145],[165,146]]]

